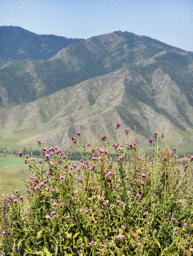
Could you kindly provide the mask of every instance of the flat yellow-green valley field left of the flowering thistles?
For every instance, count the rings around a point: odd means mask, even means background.
[[[37,159],[38,160],[38,159]],[[78,166],[80,162],[74,161]],[[26,180],[30,180],[31,173],[23,159],[20,157],[0,157],[0,170],[2,173],[2,186],[5,194],[12,194],[16,189],[20,195],[25,194],[26,186],[23,181],[22,166],[24,166]],[[45,165],[46,169],[47,165]]]

